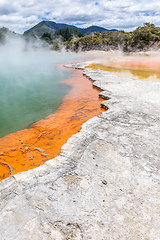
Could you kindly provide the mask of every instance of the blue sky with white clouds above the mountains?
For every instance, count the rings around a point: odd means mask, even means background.
[[[42,20],[133,31],[160,26],[160,0],[0,0],[0,27],[23,33]]]

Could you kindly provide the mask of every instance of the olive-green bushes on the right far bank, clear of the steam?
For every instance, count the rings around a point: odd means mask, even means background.
[[[145,23],[133,32],[105,31],[95,32],[90,35],[72,39],[67,42],[67,48],[77,50],[109,50],[121,48],[125,52],[146,51],[160,48],[160,27]]]

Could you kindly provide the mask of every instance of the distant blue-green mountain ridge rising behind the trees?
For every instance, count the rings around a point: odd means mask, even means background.
[[[38,23],[37,25],[35,25],[34,27],[32,27],[31,29],[25,31],[24,35],[35,35],[35,36],[41,37],[43,35],[43,33],[50,33],[52,31],[57,31],[59,29],[67,28],[67,27],[77,29],[83,35],[89,35],[92,32],[117,31],[116,29],[107,30],[105,28],[98,27],[98,26],[91,26],[88,28],[78,28],[73,25],[56,23],[53,21],[42,21],[42,22]]]

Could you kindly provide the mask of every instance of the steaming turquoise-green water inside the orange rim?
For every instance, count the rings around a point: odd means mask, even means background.
[[[0,59],[0,138],[28,128],[58,109],[70,86],[61,84],[72,70],[59,63],[80,60],[73,54],[2,53]]]

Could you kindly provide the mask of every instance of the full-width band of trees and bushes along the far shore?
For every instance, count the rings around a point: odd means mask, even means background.
[[[121,49],[124,52],[134,52],[160,49],[160,27],[151,23],[145,23],[132,32],[107,30],[104,32],[95,31],[89,35],[83,35],[76,28],[65,27],[56,31],[43,32],[40,38],[34,34],[19,35],[7,28],[1,28],[0,44],[4,44],[6,36],[7,39],[22,38],[26,44],[34,42],[34,46],[41,39],[43,46],[53,50],[61,48],[71,51]],[[46,42],[47,45],[45,45]]]

